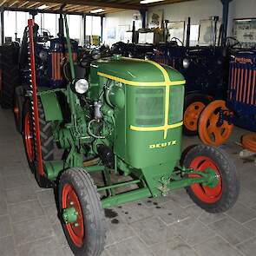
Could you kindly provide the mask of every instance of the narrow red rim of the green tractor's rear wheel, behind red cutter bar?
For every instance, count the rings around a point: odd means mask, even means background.
[[[26,152],[28,154],[28,158],[30,162],[32,162],[34,161],[35,152],[34,152],[34,138],[32,134],[32,126],[31,126],[29,112],[25,115],[24,137],[25,137]]]

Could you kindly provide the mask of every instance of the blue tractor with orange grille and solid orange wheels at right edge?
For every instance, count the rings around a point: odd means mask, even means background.
[[[237,49],[230,60],[226,101],[211,102],[200,115],[199,135],[208,145],[220,146],[232,134],[233,125],[256,132],[256,50]],[[255,135],[246,148],[255,147]],[[251,147],[250,145],[251,144]]]

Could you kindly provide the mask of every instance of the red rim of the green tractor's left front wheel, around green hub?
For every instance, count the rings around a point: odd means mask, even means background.
[[[75,246],[81,247],[84,239],[82,207],[77,195],[75,194],[75,189],[69,184],[65,184],[62,190],[62,208],[65,209],[68,207],[74,207],[75,211],[78,213],[76,220],[78,226],[75,226],[75,223],[66,224],[69,237]]]

